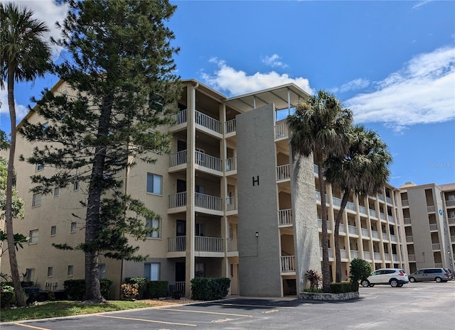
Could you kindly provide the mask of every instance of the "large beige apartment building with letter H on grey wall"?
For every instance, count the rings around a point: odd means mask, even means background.
[[[61,81],[53,92],[71,93]],[[161,220],[144,219],[159,228],[136,242],[139,253],[149,255],[145,262],[100,257],[101,276],[113,281],[113,297],[124,278],[134,276],[167,280],[170,294],[181,290],[186,296],[196,274],[230,277],[231,295],[282,297],[303,290],[306,270],[321,269],[321,197],[313,160],[291,155],[285,118],[292,104],[306,97],[295,84],[227,98],[197,80],[183,81],[175,124],[162,128],[172,133],[171,154],[156,153],[156,164],[138,162],[124,172],[124,192]],[[43,123],[32,114],[28,121]],[[17,155],[32,148],[18,137]],[[83,241],[85,209],[79,201],[86,198],[86,187],[75,182],[51,195],[33,195],[30,175],[52,169],[15,166],[16,189],[26,201],[26,218],[15,220],[15,231],[30,236],[18,251],[19,271],[43,290],[63,289],[63,281],[84,277],[84,255],[51,244]],[[341,193],[327,187],[333,278]],[[400,205],[400,191],[390,185],[376,196],[349,197],[339,236],[344,277],[353,258],[374,268],[407,269]],[[8,262],[2,258],[3,270]]]

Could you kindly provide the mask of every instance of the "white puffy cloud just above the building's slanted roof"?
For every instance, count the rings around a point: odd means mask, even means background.
[[[218,60],[218,58],[212,58],[210,62],[216,63],[218,67],[213,72],[213,75],[203,73],[203,80],[215,89],[228,92],[228,96],[255,92],[260,89],[288,84],[289,82],[294,82],[294,84],[309,94],[314,93],[310,87],[309,80],[304,77],[292,78],[287,74],[280,75],[274,71],[267,73],[256,72],[253,75],[247,75],[245,71],[235,70],[227,65],[225,61]]]

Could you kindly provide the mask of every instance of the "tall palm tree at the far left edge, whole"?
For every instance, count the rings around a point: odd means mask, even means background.
[[[43,33],[49,31],[44,23],[34,19],[33,11],[16,4],[0,4],[0,77],[1,87],[6,80],[8,106],[11,120],[11,143],[9,145],[8,177],[6,181],[6,233],[8,246],[14,246],[12,188],[14,175],[14,154],[16,152],[16,108],[14,106],[14,83],[32,81],[43,77],[48,69],[50,48],[43,41]],[[26,305],[21,289],[16,250],[9,248],[9,263],[16,303]]]

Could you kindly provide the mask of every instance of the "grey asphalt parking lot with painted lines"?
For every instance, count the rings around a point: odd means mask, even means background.
[[[455,329],[455,280],[360,287],[345,302],[232,298],[166,308],[1,324],[2,330]]]

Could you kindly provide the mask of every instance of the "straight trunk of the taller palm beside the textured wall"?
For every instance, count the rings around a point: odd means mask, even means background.
[[[328,263],[328,233],[327,233],[327,205],[326,205],[326,182],[323,176],[322,152],[316,151],[316,164],[318,165],[319,194],[321,194],[322,216],[322,290],[330,292],[330,264]]]

